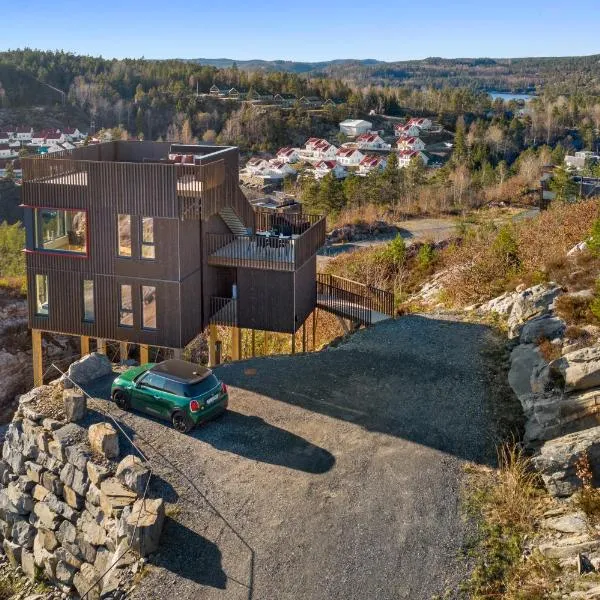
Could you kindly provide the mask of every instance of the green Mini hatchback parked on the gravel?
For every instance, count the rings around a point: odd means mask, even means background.
[[[111,397],[119,408],[168,419],[183,433],[222,414],[229,403],[227,386],[210,369],[177,359],[121,373]]]

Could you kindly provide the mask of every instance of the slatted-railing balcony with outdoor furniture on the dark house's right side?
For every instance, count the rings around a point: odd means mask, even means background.
[[[321,216],[257,213],[256,225],[254,234],[206,234],[208,264],[296,271],[325,242]]]

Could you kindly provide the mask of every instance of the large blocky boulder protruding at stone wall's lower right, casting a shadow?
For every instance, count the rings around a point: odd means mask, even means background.
[[[119,521],[119,538],[132,540],[133,549],[140,556],[158,550],[165,520],[165,505],[161,498],[139,499],[132,508],[126,508]]]

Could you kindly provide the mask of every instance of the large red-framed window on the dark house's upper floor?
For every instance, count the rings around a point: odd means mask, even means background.
[[[87,218],[83,210],[37,208],[35,210],[37,250],[87,253]]]

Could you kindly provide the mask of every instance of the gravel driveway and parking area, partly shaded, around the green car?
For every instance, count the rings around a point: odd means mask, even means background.
[[[466,573],[462,465],[493,456],[489,336],[411,316],[321,353],[224,365],[230,411],[190,435],[113,409],[172,503],[132,597],[431,600],[455,590]]]

